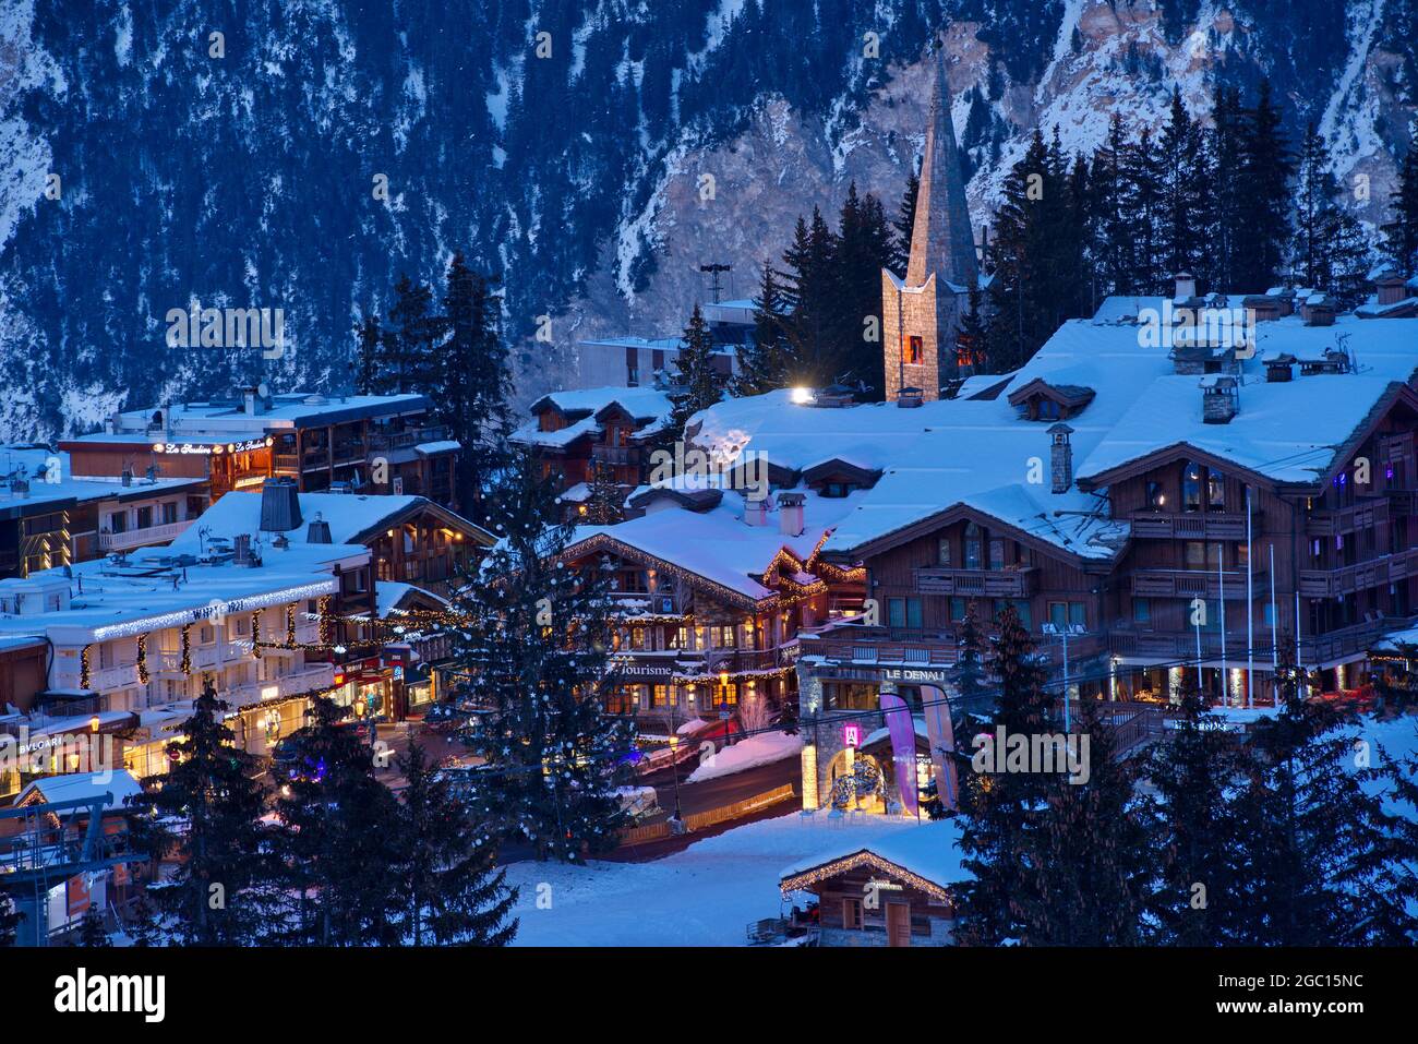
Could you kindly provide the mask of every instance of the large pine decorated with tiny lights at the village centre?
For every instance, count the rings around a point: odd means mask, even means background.
[[[498,492],[502,540],[452,596],[462,618],[454,660],[484,708],[467,742],[488,765],[475,779],[475,811],[530,843],[537,858],[579,862],[617,844],[614,787],[634,723],[603,698],[611,621],[610,566],[559,560],[571,526],[547,525],[556,492],[519,457]]]

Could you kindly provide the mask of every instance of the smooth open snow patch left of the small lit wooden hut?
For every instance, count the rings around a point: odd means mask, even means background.
[[[915,830],[915,818],[830,820],[800,813],[750,823],[654,862],[513,862],[516,946],[743,946],[778,916],[783,870],[852,838]],[[539,904],[539,896],[546,896]],[[539,906],[549,906],[539,909]]]

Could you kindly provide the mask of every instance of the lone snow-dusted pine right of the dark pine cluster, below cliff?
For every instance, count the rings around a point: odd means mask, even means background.
[[[1358,221],[1337,201],[1324,139],[1309,125],[1300,145],[1292,270],[1303,285],[1353,308],[1363,298],[1368,247]]]

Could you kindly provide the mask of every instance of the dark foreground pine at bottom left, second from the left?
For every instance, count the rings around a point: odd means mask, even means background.
[[[400,940],[389,872],[397,860],[397,807],[374,777],[374,753],[345,708],[315,696],[309,723],[284,742],[298,753],[275,810],[284,894],[291,909],[278,939],[294,945],[364,946]]]

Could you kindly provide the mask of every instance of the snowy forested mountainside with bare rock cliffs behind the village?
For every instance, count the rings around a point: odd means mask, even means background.
[[[459,247],[539,393],[581,338],[676,331],[702,262],[747,295],[851,180],[895,210],[933,27],[977,226],[1035,126],[1090,149],[1173,84],[1205,111],[1268,77],[1367,176],[1366,220],[1418,130],[1418,0],[11,0],[0,437],[255,376],[340,390],[354,319]],[[281,353],[169,348],[174,308],[281,308]]]

